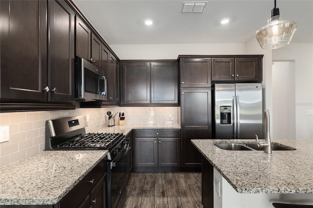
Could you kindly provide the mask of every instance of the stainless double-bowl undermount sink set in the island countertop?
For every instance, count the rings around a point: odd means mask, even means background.
[[[264,150],[264,147],[258,147],[257,144],[236,144],[236,143],[216,143],[215,146],[225,150]],[[283,146],[280,144],[272,144],[272,150],[296,150],[290,146]]]

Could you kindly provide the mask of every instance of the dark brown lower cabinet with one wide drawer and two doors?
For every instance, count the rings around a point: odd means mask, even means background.
[[[135,130],[135,167],[180,167],[180,155],[179,129]]]

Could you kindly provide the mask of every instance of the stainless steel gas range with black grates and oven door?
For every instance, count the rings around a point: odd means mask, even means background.
[[[85,116],[46,121],[45,150],[108,150],[106,198],[116,208],[126,199],[129,141],[123,133],[86,133],[87,126]]]

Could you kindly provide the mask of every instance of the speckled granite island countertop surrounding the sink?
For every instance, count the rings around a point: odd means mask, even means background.
[[[232,151],[214,143],[254,140],[191,140],[202,155],[239,193],[313,193],[312,140],[274,140],[292,151]]]

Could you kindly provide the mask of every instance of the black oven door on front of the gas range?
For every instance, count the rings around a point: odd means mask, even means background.
[[[108,208],[116,208],[120,200],[125,201],[121,196],[125,196],[126,193],[123,191],[126,191],[124,187],[128,177],[127,153],[129,150],[130,146],[125,144],[120,153],[111,162],[108,162],[108,165],[111,166],[111,170],[108,171],[108,180],[111,178],[111,183],[108,181]]]

